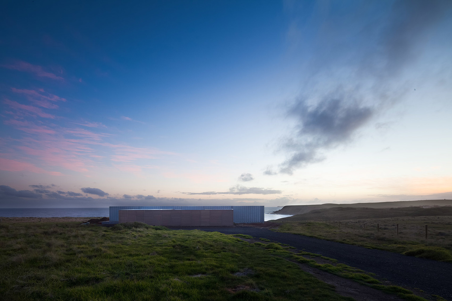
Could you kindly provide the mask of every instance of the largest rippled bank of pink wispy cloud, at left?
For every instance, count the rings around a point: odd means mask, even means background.
[[[13,107],[24,108],[25,111],[30,107],[12,101],[7,103]],[[144,176],[144,170],[159,168],[150,165],[148,160],[164,155],[177,155],[155,148],[109,143],[105,141],[110,136],[108,133],[97,133],[79,127],[61,127],[56,124],[46,127],[26,120],[18,113],[13,113],[13,116],[14,119],[4,123],[31,135],[11,139],[5,154],[7,153],[10,159],[28,162],[30,165],[56,166],[85,176],[93,175],[92,173],[99,170],[121,170]],[[95,127],[101,123],[86,122],[85,125]]]

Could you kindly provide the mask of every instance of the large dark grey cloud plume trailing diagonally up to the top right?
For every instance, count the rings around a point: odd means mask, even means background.
[[[378,18],[368,18],[375,15],[365,5],[339,17],[334,8],[322,10],[312,45],[315,56],[304,72],[309,78],[287,108],[296,126],[282,139],[288,158],[279,172],[293,174],[324,160],[326,151],[353,141],[377,114],[399,101],[408,90],[404,71],[415,64],[426,33],[450,7],[450,1],[396,1]]]

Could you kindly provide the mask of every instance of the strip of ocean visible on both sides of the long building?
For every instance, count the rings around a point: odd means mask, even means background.
[[[265,207],[264,221],[276,220],[290,215],[272,214],[281,207]],[[109,216],[107,208],[0,208],[3,217],[104,217]]]

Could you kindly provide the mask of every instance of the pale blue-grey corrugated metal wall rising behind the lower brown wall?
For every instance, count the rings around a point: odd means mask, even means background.
[[[110,206],[110,222],[119,222],[119,210],[127,209],[234,209],[235,223],[263,223],[264,206]]]

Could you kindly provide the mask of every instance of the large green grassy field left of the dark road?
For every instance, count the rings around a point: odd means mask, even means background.
[[[1,300],[352,300],[271,249],[141,223],[0,225]]]

